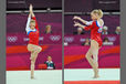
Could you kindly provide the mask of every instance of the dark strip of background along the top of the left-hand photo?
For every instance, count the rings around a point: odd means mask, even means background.
[[[30,3],[35,10],[62,9],[62,0],[7,0],[7,10],[25,10]]]

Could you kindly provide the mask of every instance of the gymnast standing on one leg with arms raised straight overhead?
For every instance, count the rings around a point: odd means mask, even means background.
[[[38,57],[38,54],[41,52],[42,48],[39,46],[39,27],[35,19],[35,15],[33,13],[33,7],[30,4],[30,13],[27,22],[27,34],[29,35],[29,44],[28,44],[28,51],[31,52],[31,78],[34,78],[34,67],[35,67],[35,60]]]

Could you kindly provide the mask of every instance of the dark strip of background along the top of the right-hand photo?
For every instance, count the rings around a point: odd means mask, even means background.
[[[119,11],[119,0],[65,0],[65,12]]]

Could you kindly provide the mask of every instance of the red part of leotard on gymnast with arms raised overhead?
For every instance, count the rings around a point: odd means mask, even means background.
[[[36,22],[35,17],[33,17],[32,19],[35,20],[35,29],[36,29],[36,31],[29,33],[29,39],[30,39],[29,43],[39,45],[39,27],[38,27],[38,22]]]

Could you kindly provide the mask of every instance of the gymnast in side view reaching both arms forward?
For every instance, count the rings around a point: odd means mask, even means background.
[[[102,10],[93,10],[91,12],[92,21],[85,21],[81,19],[80,17],[74,17],[74,20],[78,20],[85,25],[74,21],[74,27],[83,28],[84,30],[91,30],[91,48],[88,49],[88,52],[86,53],[86,59],[91,66],[94,70],[94,78],[99,77],[98,75],[98,49],[102,46],[102,28],[104,25],[103,18],[103,11]],[[92,57],[93,55],[93,57]]]

